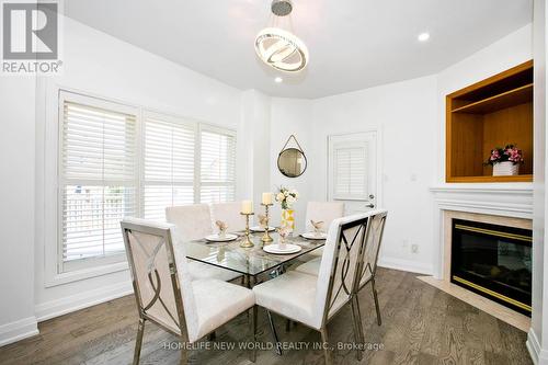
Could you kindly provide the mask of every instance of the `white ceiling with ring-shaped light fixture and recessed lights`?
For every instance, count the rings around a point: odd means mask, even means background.
[[[255,34],[271,25],[269,0],[70,0],[65,12],[238,89],[313,99],[435,73],[529,23],[533,11],[532,0],[294,0],[293,30],[310,52],[298,76],[254,54]]]

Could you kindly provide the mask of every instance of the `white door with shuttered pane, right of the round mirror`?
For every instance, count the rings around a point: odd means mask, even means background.
[[[328,198],[344,202],[345,215],[377,205],[377,132],[333,135],[328,138]]]

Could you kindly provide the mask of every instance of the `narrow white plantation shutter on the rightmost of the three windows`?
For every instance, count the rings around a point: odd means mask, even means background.
[[[233,202],[236,198],[236,135],[228,130],[202,127],[199,201]]]

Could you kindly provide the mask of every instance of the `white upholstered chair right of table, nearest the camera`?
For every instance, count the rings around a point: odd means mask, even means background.
[[[253,287],[255,303],[321,333],[328,342],[327,324],[346,304],[352,307],[355,341],[362,342],[357,308],[352,295],[363,256],[367,214],[338,218],[331,223],[318,275],[289,271]],[[324,347],[326,363],[331,352]],[[357,351],[357,357],[362,352]]]

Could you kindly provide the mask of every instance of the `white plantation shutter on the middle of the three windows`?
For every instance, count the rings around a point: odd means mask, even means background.
[[[145,116],[145,218],[164,220],[165,207],[194,203],[195,130],[170,116]]]

